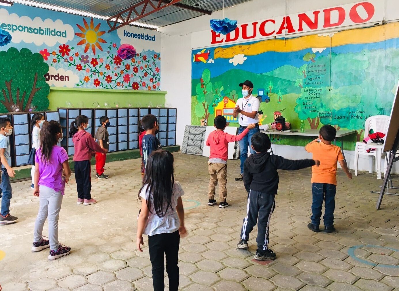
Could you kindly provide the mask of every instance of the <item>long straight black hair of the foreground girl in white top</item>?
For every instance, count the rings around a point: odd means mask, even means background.
[[[173,160],[173,155],[169,151],[164,149],[152,151],[148,157],[144,183],[139,191],[140,193],[144,187],[147,187],[147,207],[150,210],[151,203],[154,203],[155,212],[159,217],[164,216],[169,207],[172,208]],[[138,199],[141,201],[140,195]]]

